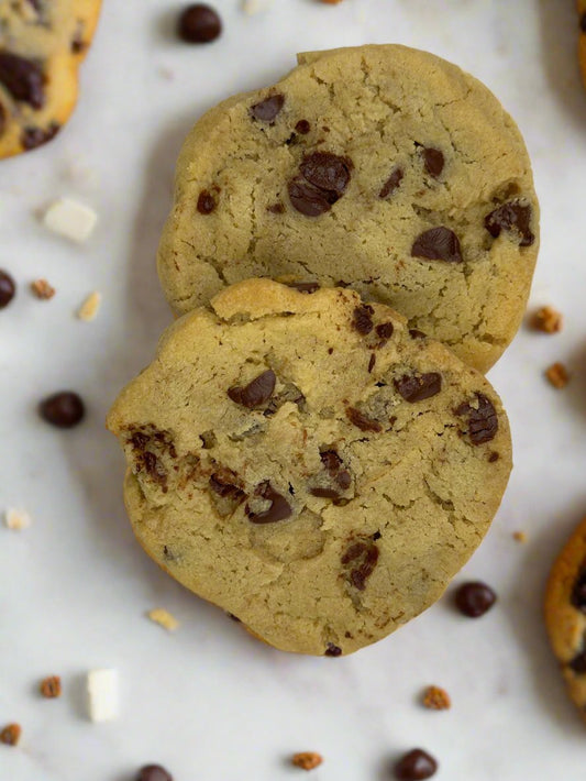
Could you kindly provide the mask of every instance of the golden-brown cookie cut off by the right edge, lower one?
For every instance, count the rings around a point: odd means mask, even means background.
[[[586,717],[586,518],[552,568],[545,624],[570,696]]]

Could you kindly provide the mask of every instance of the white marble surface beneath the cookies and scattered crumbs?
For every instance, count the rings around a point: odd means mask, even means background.
[[[586,95],[574,58],[574,3],[560,0],[275,0],[252,18],[215,0],[217,44],[172,34],[178,4],[104,0],[74,119],[43,150],[0,164],[0,266],[20,285],[0,314],[0,510],[33,526],[0,528],[0,723],[23,725],[0,746],[1,781],[132,781],[158,761],[176,781],[278,781],[318,750],[314,781],[383,781],[413,746],[434,754],[442,781],[550,781],[584,776],[586,733],[566,701],[541,622],[549,565],[586,512],[584,194]],[[180,6],[180,4],[179,4]],[[533,306],[566,316],[562,334],[523,330],[490,378],[510,413],[516,469],[494,527],[462,578],[485,579],[495,609],[466,620],[446,597],[387,640],[347,659],[297,658],[254,641],[161,572],[135,543],[121,501],[122,458],[103,428],[118,389],[153,354],[169,322],[154,270],[179,144],[203,110],[272,82],[298,50],[400,42],[483,79],[518,120],[543,208]],[[76,197],[97,209],[92,239],[51,235],[37,212]],[[57,288],[35,300],[27,283]],[[93,323],[75,319],[99,289]],[[572,384],[542,378],[567,362]],[[45,394],[70,387],[86,422],[62,432],[37,419]],[[512,539],[524,530],[528,542]],[[163,606],[175,635],[150,623]],[[120,672],[121,714],[93,725],[84,675]],[[43,701],[58,673],[65,693]],[[418,704],[423,685],[453,697]]]

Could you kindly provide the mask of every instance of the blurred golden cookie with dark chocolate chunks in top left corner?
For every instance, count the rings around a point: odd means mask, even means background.
[[[0,158],[51,141],[74,110],[101,0],[0,0]]]

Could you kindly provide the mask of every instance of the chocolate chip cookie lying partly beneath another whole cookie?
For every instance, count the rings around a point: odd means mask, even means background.
[[[183,314],[244,277],[343,280],[487,370],[517,331],[538,252],[515,122],[424,52],[299,63],[188,136],[158,255],[169,302]]]

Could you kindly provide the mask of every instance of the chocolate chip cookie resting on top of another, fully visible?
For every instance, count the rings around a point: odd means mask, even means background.
[[[489,383],[350,289],[236,284],[177,320],[108,427],[146,552],[286,651],[340,656],[431,605],[511,468]]]

